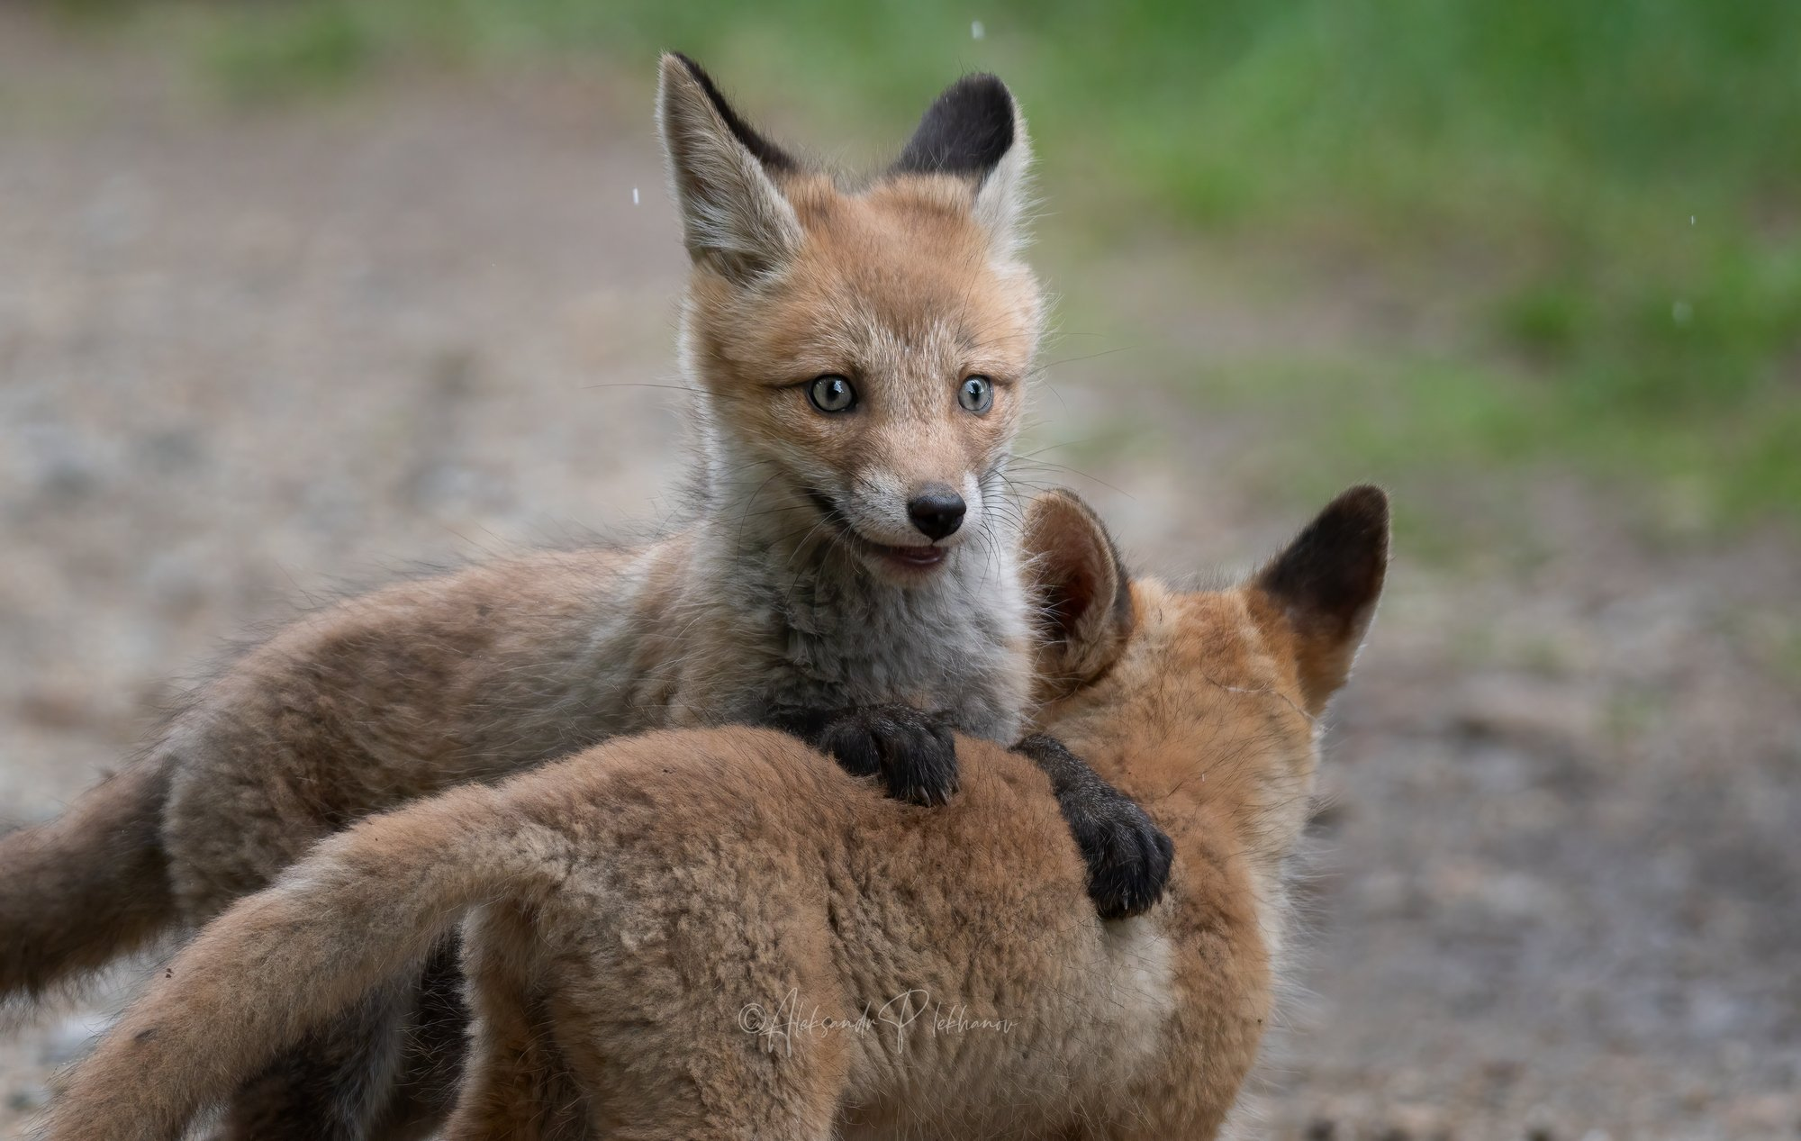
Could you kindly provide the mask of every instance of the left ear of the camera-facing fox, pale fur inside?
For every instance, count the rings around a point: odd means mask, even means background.
[[[693,261],[733,281],[787,261],[800,247],[800,220],[771,173],[800,164],[751,130],[713,77],[679,52],[663,56],[657,126]]]

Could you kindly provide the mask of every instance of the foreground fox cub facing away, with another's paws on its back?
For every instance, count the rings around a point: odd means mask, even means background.
[[[175,1137],[465,916],[479,1020],[452,1139],[1214,1136],[1270,1015],[1281,864],[1381,590],[1387,499],[1340,495],[1199,594],[1127,585],[1073,497],[1027,529],[1068,601],[1048,677],[1100,666],[1045,729],[1174,837],[1147,914],[1095,920],[1045,774],[994,745],[962,740],[962,795],[926,813],[776,732],[657,732],[326,840],[151,983],[49,1136]]]

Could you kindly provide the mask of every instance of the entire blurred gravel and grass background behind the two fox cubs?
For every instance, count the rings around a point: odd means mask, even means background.
[[[1248,1136],[1801,1132],[1794,4],[4,5],[0,821],[295,605],[668,511],[661,47],[854,169],[1007,79],[1025,464],[1142,567],[1392,490]]]

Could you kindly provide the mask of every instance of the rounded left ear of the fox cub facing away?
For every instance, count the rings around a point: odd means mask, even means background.
[[[1052,700],[1097,678],[1126,648],[1131,576],[1100,517],[1061,488],[1027,508],[1021,547],[1039,615],[1037,678]]]

